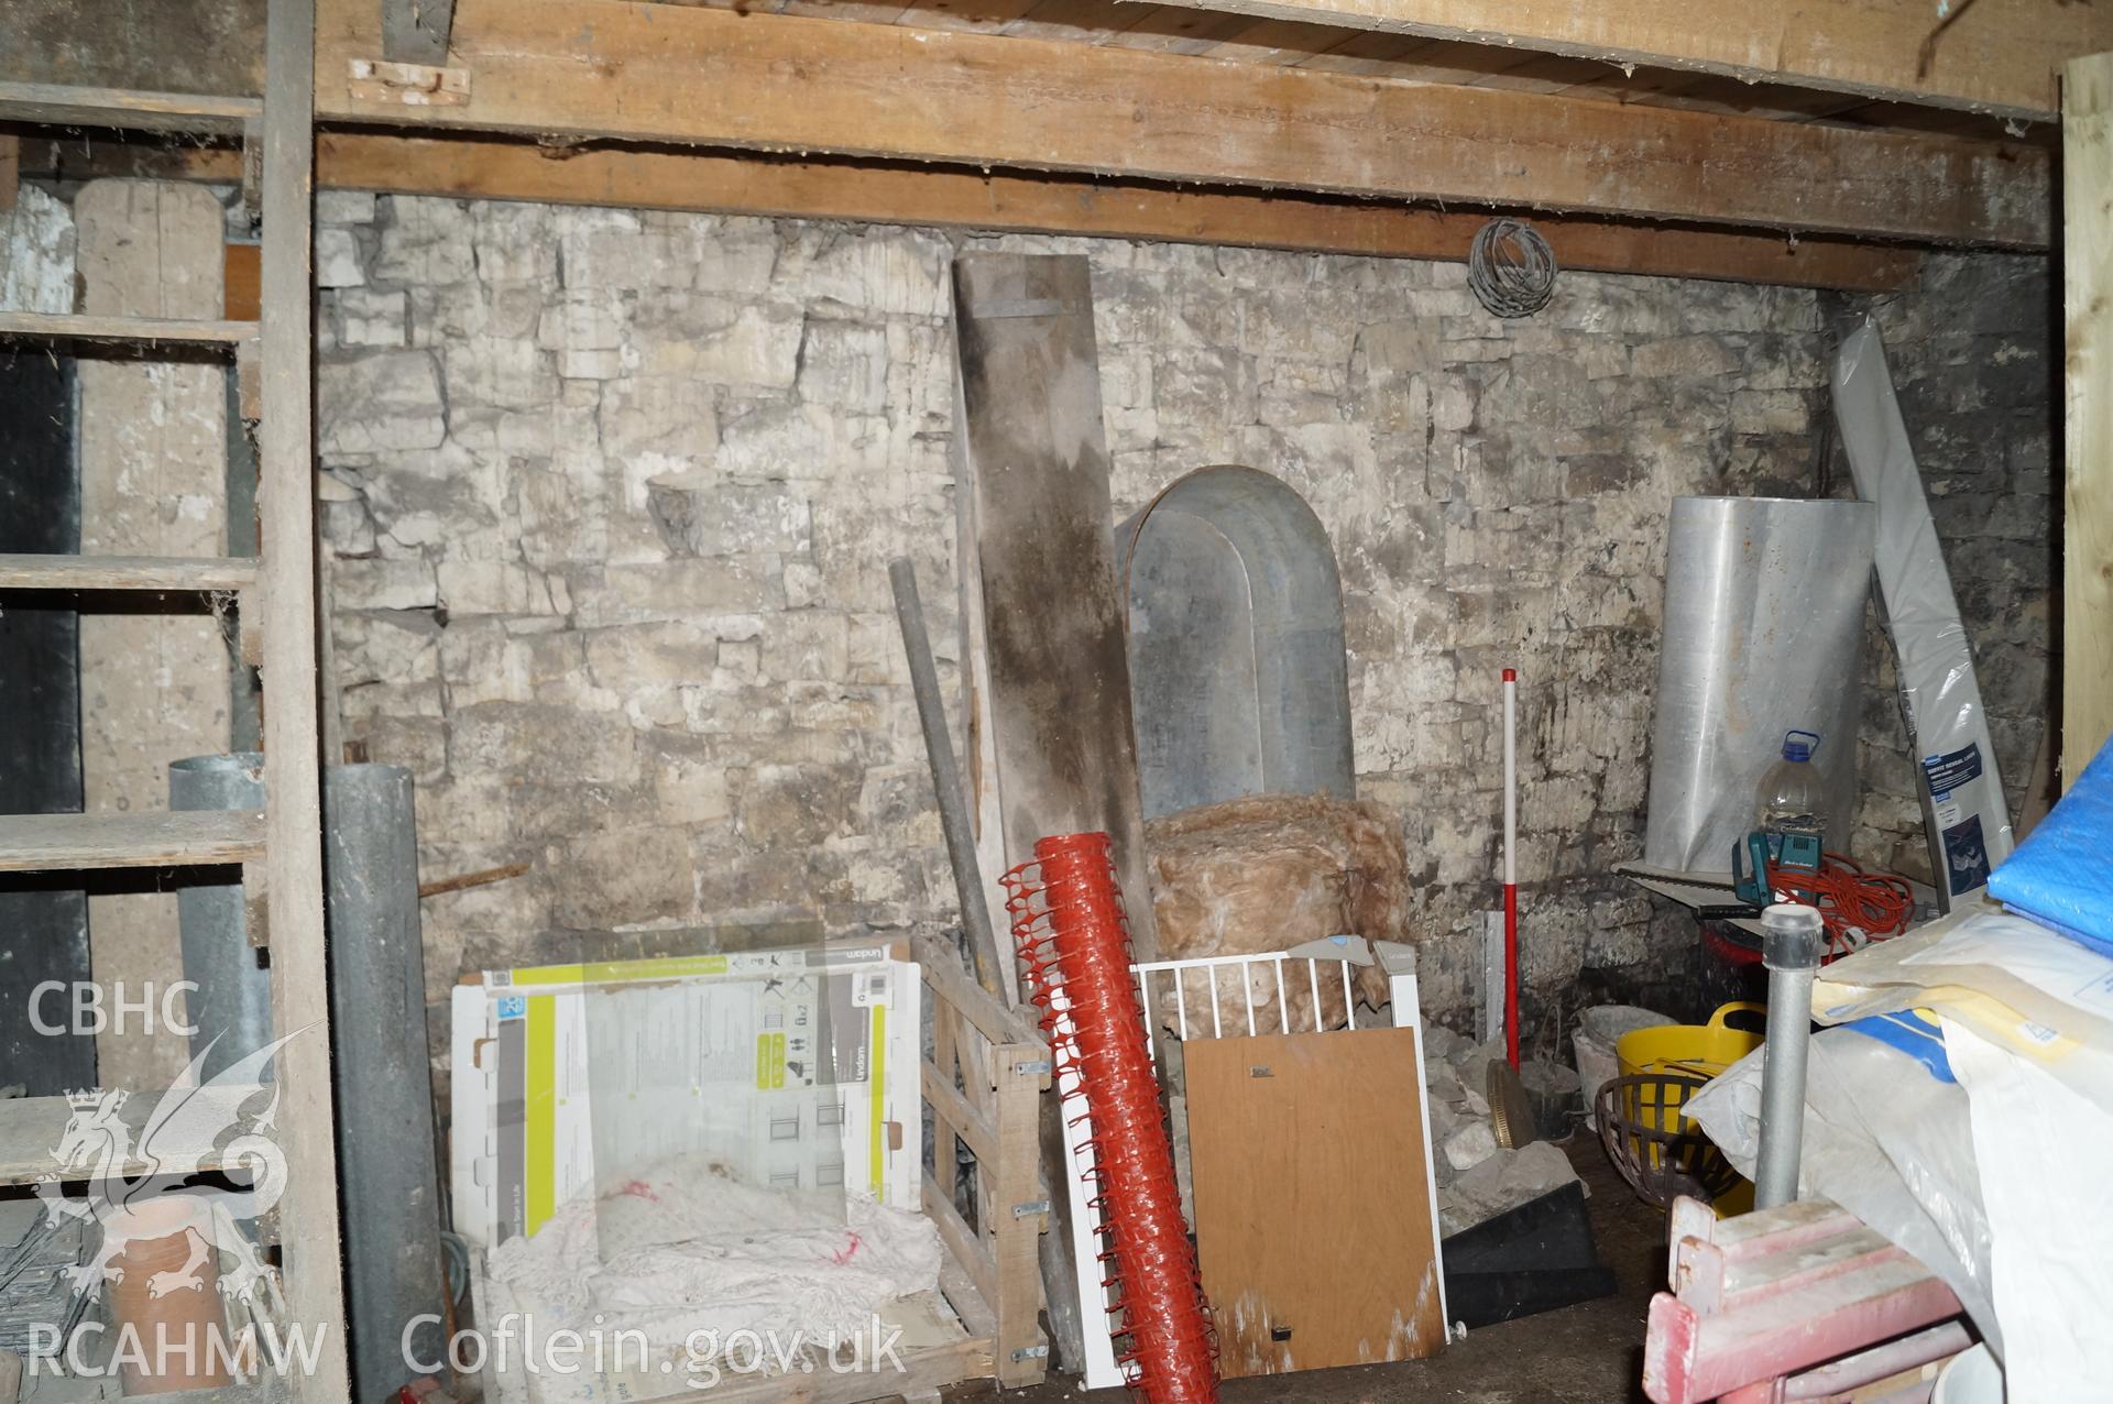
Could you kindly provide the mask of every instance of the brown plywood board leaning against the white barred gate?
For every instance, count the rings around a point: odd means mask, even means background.
[[[1194,1039],[1181,1051],[1221,1372],[1437,1353],[1416,1030]],[[1376,1176],[1401,1193],[1376,1193]]]

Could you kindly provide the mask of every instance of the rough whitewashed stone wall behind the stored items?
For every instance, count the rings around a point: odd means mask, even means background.
[[[917,562],[949,652],[957,247],[1092,262],[1118,513],[1245,462],[1321,515],[1359,785],[1405,828],[1433,1013],[1466,1011],[1496,902],[1502,665],[1530,1009],[1693,944],[1606,876],[1642,847],[1665,511],[1815,490],[1817,293],[1566,272],[1502,323],[1454,264],[361,194],[319,217],[344,733],[414,769],[429,878],[535,864],[425,906],[433,990],[564,931],[953,916],[885,568]],[[2045,355],[2009,323],[1936,350],[1984,317],[1942,289],[1889,306],[1933,397]],[[2039,448],[1971,479],[2018,536],[1948,526],[1976,534],[1955,568],[2005,581],[1965,585],[1976,629],[2043,673],[2045,572],[2014,578],[2001,545],[2047,551],[2039,395]],[[1997,735],[2022,779],[2018,701]]]

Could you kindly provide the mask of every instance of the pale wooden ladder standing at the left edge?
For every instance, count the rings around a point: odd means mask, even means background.
[[[0,338],[154,348],[224,348],[258,391],[258,559],[0,555],[0,591],[232,591],[245,652],[264,682],[264,811],[95,813],[0,817],[0,872],[82,872],[243,864],[262,876],[270,946],[273,1022],[294,1035],[275,1060],[273,1136],[287,1184],[277,1206],[287,1326],[321,1349],[313,1370],[266,1374],[254,1389],[211,1398],[330,1400],[349,1393],[338,1265],[338,1165],[330,1087],[330,1001],[323,967],[321,756],[317,743],[313,188],[315,0],[268,0],[264,101],[0,84],[0,118],[66,125],[243,133],[260,148],[262,315],[245,321],[63,317],[0,312]],[[254,359],[254,365],[249,361]],[[4,604],[4,597],[0,597]],[[171,760],[175,760],[171,756]],[[254,910],[254,906],[251,906]],[[243,1049],[256,1051],[256,1049]],[[232,1089],[241,1092],[241,1089]],[[216,1096],[232,1096],[216,1094]],[[152,1096],[133,1098],[137,1121]],[[235,1106],[230,1104],[230,1115]],[[0,1102],[0,1184],[55,1180],[53,1149],[66,1098]],[[165,1146],[158,1146],[167,1151]],[[192,1146],[218,1168],[209,1146]],[[129,1174],[146,1165],[129,1168]],[[182,1400],[186,1396],[161,1396]]]

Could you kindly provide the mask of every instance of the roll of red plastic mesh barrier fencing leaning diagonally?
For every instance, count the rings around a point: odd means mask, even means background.
[[[1092,1146],[1088,1208],[1107,1241],[1101,1263],[1114,1288],[1116,1355],[1149,1404],[1215,1402],[1217,1343],[1181,1220],[1107,834],[1042,838],[1033,861],[1008,872],[1004,885],[1056,1073],[1076,1070],[1084,1092],[1086,1115],[1071,1125],[1084,1121],[1084,1144]]]

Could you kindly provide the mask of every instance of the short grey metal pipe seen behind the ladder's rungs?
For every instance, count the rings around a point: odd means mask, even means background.
[[[264,809],[264,756],[190,756],[169,764],[169,809]],[[249,942],[241,883],[175,889],[177,940],[184,948],[184,1007],[192,1058],[205,1054],[201,1077],[273,1041],[270,969]],[[207,1054],[207,1049],[211,1049]],[[266,1066],[262,1077],[270,1079]]]

